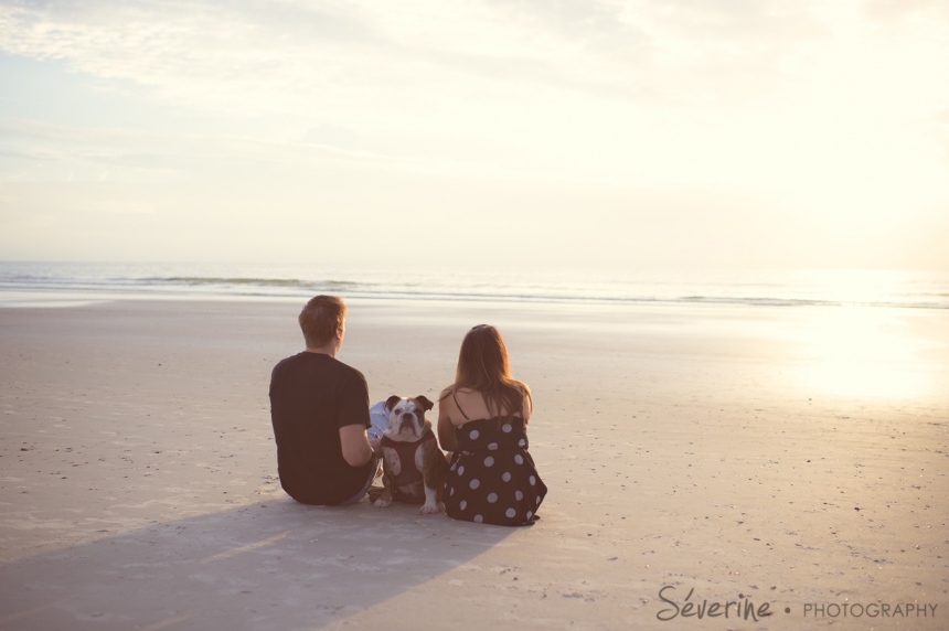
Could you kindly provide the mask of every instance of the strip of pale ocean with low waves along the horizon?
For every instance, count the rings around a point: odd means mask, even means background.
[[[0,261],[0,307],[120,299],[744,304],[949,309],[949,274]]]

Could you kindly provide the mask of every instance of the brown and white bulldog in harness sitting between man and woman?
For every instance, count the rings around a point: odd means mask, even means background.
[[[386,509],[392,501],[422,503],[422,514],[437,513],[441,506],[441,488],[448,463],[431,424],[425,413],[434,407],[424,396],[388,397],[388,428],[382,432],[383,492],[376,509]]]

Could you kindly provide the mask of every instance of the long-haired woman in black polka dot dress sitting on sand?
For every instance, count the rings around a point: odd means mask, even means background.
[[[438,440],[452,451],[448,516],[502,526],[534,522],[547,488],[527,453],[531,391],[511,378],[508,349],[479,324],[461,342],[455,383],[438,397]]]

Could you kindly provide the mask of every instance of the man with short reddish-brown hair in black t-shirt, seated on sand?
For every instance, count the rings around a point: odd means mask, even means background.
[[[270,419],[280,485],[305,504],[360,501],[375,475],[366,438],[371,427],[365,377],[335,359],[345,334],[346,306],[317,296],[300,312],[307,350],[270,376]]]

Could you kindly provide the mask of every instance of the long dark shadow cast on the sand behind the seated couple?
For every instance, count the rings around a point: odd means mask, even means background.
[[[0,567],[2,629],[316,629],[479,556],[513,528],[281,498]]]

